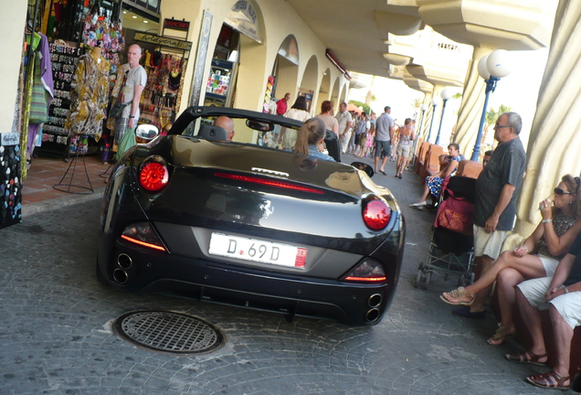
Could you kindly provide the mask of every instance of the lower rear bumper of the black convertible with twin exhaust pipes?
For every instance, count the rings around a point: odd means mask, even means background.
[[[331,318],[351,326],[377,324],[395,292],[395,283],[344,283],[242,271],[238,267],[116,243],[110,264],[99,270],[111,284],[132,291],[179,294],[289,315]],[[396,264],[396,262],[394,262]],[[395,280],[395,279],[394,279]]]

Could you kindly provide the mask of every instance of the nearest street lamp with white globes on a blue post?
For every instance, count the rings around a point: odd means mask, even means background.
[[[472,157],[470,158],[473,161],[478,161],[478,156],[481,152],[482,129],[484,129],[484,123],[486,122],[486,109],[488,108],[488,99],[491,96],[491,92],[496,89],[496,82],[511,73],[507,63],[507,51],[504,49],[492,51],[490,55],[483,57],[478,63],[478,73],[486,82],[486,99],[484,100],[481,125],[478,128],[474,151],[472,151]]]

